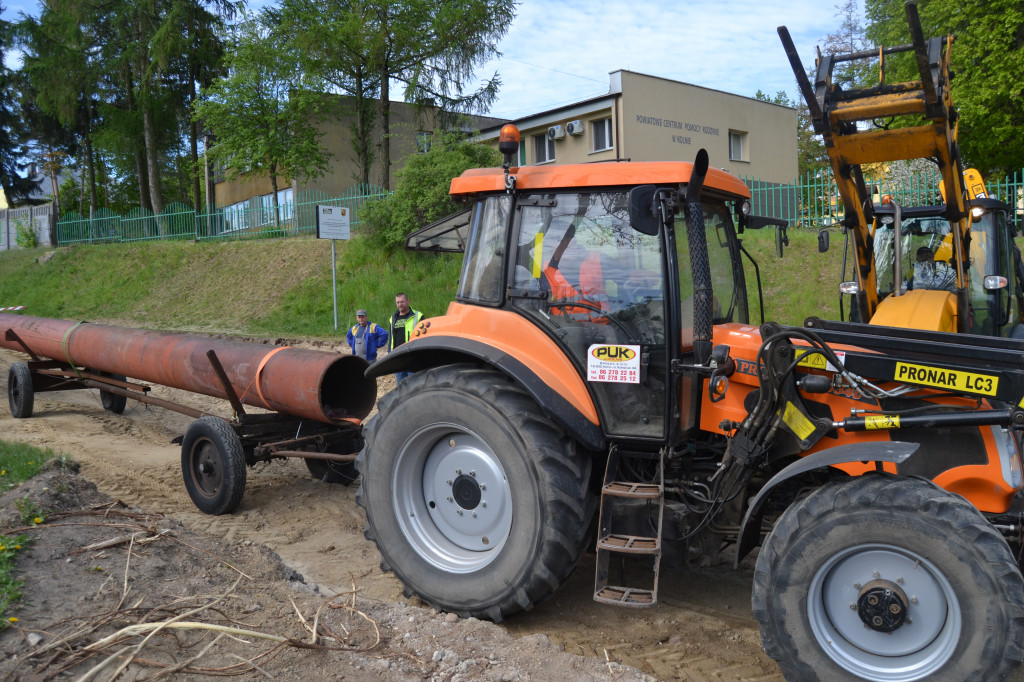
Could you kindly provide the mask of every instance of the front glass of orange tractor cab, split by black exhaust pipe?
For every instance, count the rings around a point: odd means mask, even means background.
[[[740,291],[734,275],[733,254],[729,248],[732,216],[724,204],[703,202],[705,235],[708,239],[708,260],[711,265],[712,322],[746,322],[746,292]],[[680,312],[683,325],[683,347],[693,345],[693,275],[690,269],[690,246],[686,233],[686,215],[676,216],[676,260],[679,264]]]

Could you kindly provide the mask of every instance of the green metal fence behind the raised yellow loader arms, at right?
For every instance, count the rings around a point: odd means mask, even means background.
[[[831,169],[808,173],[790,184],[776,184],[751,177],[743,181],[751,188],[752,211],[757,215],[783,218],[794,226],[823,227],[839,223],[846,215],[843,200]],[[898,178],[865,177],[873,201],[891,195],[902,206],[933,206],[942,203],[941,174],[915,173]],[[997,180],[987,180],[990,197],[1015,208],[1017,224],[1024,218],[1024,171]]]

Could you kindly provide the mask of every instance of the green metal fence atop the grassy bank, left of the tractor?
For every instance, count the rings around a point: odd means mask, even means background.
[[[286,193],[281,193],[286,194]],[[287,190],[287,195],[291,195]],[[191,207],[172,203],[159,215],[144,208],[134,208],[124,216],[99,209],[91,217],[74,211],[57,222],[57,244],[103,244],[143,242],[147,240],[253,240],[316,233],[316,207],[345,206],[351,211],[353,229],[358,228],[359,209],[390,193],[373,185],[355,185],[340,197],[329,197],[316,189],[304,189],[294,198],[280,200],[254,197],[231,206],[215,207],[197,213]]]

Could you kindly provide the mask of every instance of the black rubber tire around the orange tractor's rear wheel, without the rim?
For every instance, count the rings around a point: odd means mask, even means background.
[[[378,409],[364,432],[366,446],[355,462],[362,476],[356,502],[366,510],[364,535],[377,544],[381,569],[394,571],[406,594],[462,617],[500,622],[531,608],[565,583],[588,545],[587,530],[596,509],[588,492],[591,461],[525,390],[500,372],[452,365],[412,375],[385,395]],[[472,410],[485,416],[473,420],[480,415],[469,415]],[[495,454],[519,458],[511,467],[528,472],[529,480],[510,480],[510,487],[528,488],[537,496],[530,502],[539,506],[540,518],[523,513],[529,505],[520,507],[500,556],[472,573],[445,572],[428,564],[393,520],[388,467],[395,456],[392,450],[397,449],[390,445],[404,440],[402,429],[416,428],[408,417],[417,412],[427,421],[467,423],[478,433],[489,428],[481,421],[493,417],[503,422],[495,428],[516,434],[521,445],[516,453]],[[512,479],[510,461],[503,465]],[[527,534],[527,528],[532,530]],[[526,536],[528,541],[522,540]]]

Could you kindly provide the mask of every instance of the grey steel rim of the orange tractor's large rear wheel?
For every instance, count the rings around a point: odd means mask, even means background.
[[[463,426],[435,424],[414,433],[395,460],[391,493],[406,540],[446,572],[486,566],[512,529],[505,470],[483,439]]]

